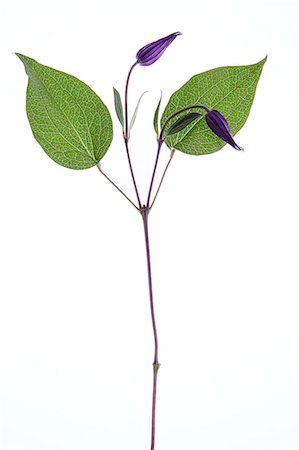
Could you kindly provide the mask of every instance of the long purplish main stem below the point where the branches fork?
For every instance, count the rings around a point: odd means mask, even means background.
[[[155,310],[154,310],[151,255],[150,255],[150,244],[149,244],[149,234],[148,234],[148,213],[149,213],[149,208],[147,206],[143,206],[143,208],[141,209],[141,214],[142,214],[143,225],[144,225],[149,299],[150,299],[152,327],[153,327],[153,334],[154,334],[154,341],[155,341],[155,352],[154,352],[154,361],[153,361],[153,396],[152,396],[152,426],[151,426],[151,450],[154,450],[155,449],[155,432],[156,432],[157,374],[158,374],[160,364],[158,362],[158,333],[157,333]]]

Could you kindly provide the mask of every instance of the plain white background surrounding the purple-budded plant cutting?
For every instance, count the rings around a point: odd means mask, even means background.
[[[150,91],[131,140],[143,198],[159,90],[165,107],[196,73],[268,61],[236,137],[245,152],[177,152],[151,213],[156,449],[295,449],[295,2],[0,4],[1,450],[148,449],[153,358],[141,219],[96,168],[72,171],[45,155],[13,52],[100,95],[115,130],[103,168],[133,197],[112,86],[123,91],[136,51],[174,31],[183,36],[163,58],[132,76],[131,108]]]

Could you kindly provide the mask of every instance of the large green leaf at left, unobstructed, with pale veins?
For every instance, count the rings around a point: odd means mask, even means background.
[[[47,155],[70,169],[98,164],[113,135],[111,117],[102,100],[72,75],[16,55],[29,77],[28,120]]]

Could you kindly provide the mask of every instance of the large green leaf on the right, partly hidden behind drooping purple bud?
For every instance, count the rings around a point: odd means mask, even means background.
[[[247,120],[266,59],[250,66],[219,67],[195,75],[170,97],[161,124],[175,111],[201,104],[217,109],[228,121],[232,134],[236,134]],[[220,150],[225,142],[212,132],[203,116],[167,137],[166,144],[184,153],[203,155]]]

